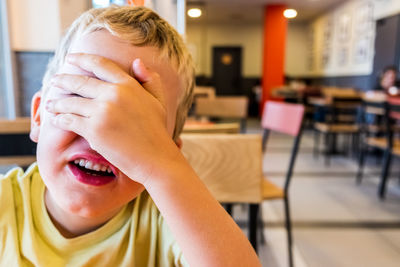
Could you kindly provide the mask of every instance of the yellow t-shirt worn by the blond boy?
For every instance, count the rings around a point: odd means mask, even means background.
[[[0,176],[0,266],[188,266],[147,192],[99,229],[65,238],[44,204],[36,164]]]

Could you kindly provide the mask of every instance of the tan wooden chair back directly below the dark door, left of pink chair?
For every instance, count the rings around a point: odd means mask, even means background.
[[[245,96],[217,96],[197,98],[195,115],[214,119],[234,119],[240,121],[241,132],[246,130],[248,98]]]

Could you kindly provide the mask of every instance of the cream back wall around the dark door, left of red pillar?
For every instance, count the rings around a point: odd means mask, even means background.
[[[186,38],[192,51],[197,75],[212,75],[213,46],[242,47],[242,75],[262,73],[263,28],[258,24],[188,24]]]

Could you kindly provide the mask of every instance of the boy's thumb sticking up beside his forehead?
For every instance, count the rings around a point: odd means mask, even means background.
[[[147,68],[139,58],[133,61],[132,70],[135,79],[143,88],[165,106],[160,75]]]

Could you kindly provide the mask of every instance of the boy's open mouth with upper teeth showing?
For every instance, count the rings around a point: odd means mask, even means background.
[[[117,177],[109,165],[83,158],[70,161],[68,165],[78,181],[89,185],[104,185]]]

